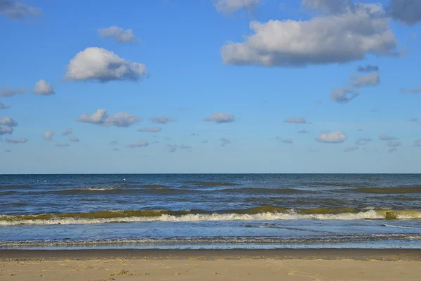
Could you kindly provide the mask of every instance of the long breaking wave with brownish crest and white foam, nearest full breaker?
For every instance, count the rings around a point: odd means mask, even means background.
[[[89,224],[129,223],[148,221],[282,221],[282,220],[361,220],[361,219],[421,219],[421,211],[392,209],[286,209],[262,206],[251,209],[201,211],[201,210],[123,210],[65,214],[1,215],[0,226],[20,224]]]

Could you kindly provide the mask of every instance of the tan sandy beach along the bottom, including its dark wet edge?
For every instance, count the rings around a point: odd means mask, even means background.
[[[419,249],[0,251],[1,280],[419,280]]]

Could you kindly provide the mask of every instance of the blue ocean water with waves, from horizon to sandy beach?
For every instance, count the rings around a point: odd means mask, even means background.
[[[0,175],[0,249],[279,248],[421,249],[421,175]]]

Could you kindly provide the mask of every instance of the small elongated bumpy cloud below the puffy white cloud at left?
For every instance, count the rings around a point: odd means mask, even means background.
[[[76,121],[97,124],[100,126],[128,127],[140,121],[140,118],[126,112],[108,115],[107,110],[99,109],[93,115],[83,113]]]

